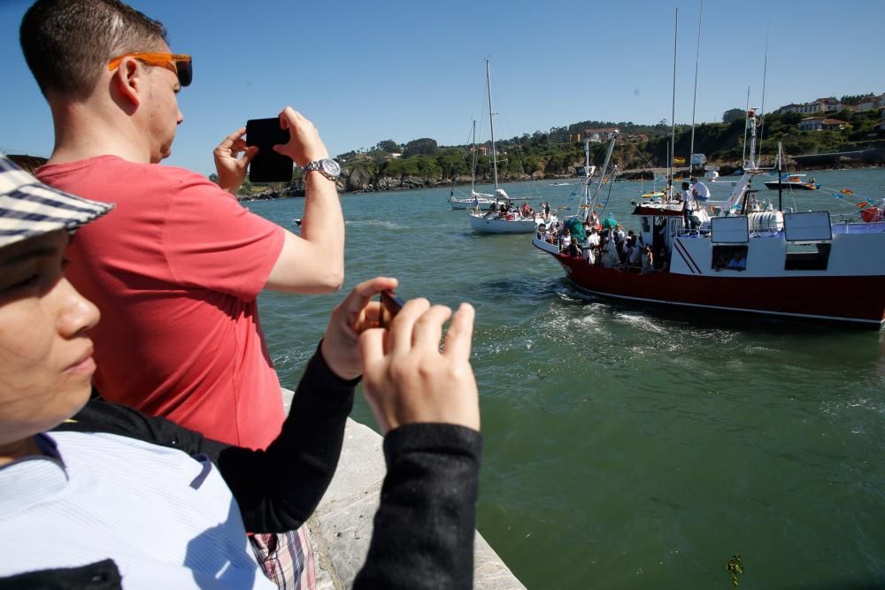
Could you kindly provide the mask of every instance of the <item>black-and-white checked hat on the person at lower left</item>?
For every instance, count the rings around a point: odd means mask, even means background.
[[[72,231],[113,209],[43,184],[0,154],[0,248],[58,229]]]

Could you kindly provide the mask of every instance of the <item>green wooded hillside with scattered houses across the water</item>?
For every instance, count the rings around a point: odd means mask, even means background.
[[[827,96],[757,113],[760,156],[773,162],[781,143],[785,165],[792,170],[885,165],[883,112],[885,93]],[[496,172],[502,181],[574,176],[584,163],[584,144],[589,144],[591,162],[599,165],[604,144],[612,138],[616,140],[612,158],[626,178],[650,178],[666,167],[671,153],[676,165],[686,165],[691,154],[697,153],[704,154],[707,163],[733,171],[743,165],[746,114],[742,108],[729,109],[721,122],[701,123],[694,130],[678,124],[672,150],[673,130],[666,120],[653,125],[587,120],[546,132],[496,138]],[[428,137],[405,143],[383,140],[336,157],[343,169],[339,188],[342,192],[372,192],[455,186],[472,178],[486,182],[493,177],[491,153],[489,139],[458,146],[441,146]],[[301,195],[303,190],[301,172],[296,170],[293,182],[285,186],[268,190],[247,185],[242,193],[273,198]]]

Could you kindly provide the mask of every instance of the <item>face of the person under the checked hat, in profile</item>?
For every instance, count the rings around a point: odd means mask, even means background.
[[[70,418],[89,400],[98,321],[62,274],[67,233],[0,249],[0,452]]]

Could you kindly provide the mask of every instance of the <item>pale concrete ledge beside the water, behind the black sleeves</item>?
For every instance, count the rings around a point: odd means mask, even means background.
[[[381,483],[387,470],[381,436],[348,418],[335,478],[308,519],[316,556],[317,587],[342,590],[353,586],[366,561]],[[489,590],[522,589],[480,533],[476,533],[473,586]]]

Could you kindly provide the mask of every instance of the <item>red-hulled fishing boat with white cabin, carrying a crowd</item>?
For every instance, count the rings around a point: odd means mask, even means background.
[[[747,125],[752,154],[753,111]],[[750,185],[764,171],[752,156],[744,168],[727,201],[709,201],[697,212],[696,227],[686,222],[681,203],[636,204],[637,234],[656,257],[645,271],[569,257],[543,235],[533,243],[576,287],[595,295],[879,328],[885,320],[885,222],[835,220],[828,211],[750,212]]]

